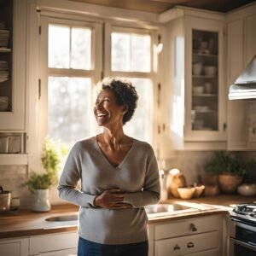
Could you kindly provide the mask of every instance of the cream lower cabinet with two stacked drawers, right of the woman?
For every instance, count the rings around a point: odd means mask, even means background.
[[[154,224],[154,256],[226,256],[224,219],[215,215]]]

